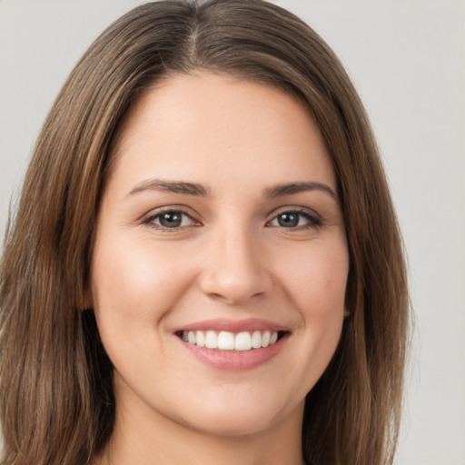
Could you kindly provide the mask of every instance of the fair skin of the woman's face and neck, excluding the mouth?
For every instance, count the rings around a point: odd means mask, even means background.
[[[113,156],[91,298],[114,363],[116,422],[94,463],[302,464],[304,398],[340,339],[349,269],[312,116],[270,85],[175,75],[135,105]],[[289,183],[318,185],[271,195]],[[160,209],[183,212],[182,223],[163,228]],[[298,223],[282,225],[296,210]],[[286,338],[258,367],[214,368],[173,331],[216,318],[264,319]]]

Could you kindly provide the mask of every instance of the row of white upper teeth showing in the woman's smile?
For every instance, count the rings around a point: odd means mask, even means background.
[[[268,347],[278,341],[277,331],[183,331],[183,341],[219,351],[250,351]]]

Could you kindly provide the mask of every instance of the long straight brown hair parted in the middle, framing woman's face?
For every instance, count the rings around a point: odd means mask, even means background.
[[[0,420],[5,465],[81,465],[114,425],[112,366],[85,307],[112,143],[153,82],[194,70],[273,84],[306,105],[338,178],[351,269],[341,342],[307,395],[308,463],[388,464],[409,323],[396,216],[361,101],[308,25],[261,0],[161,1],[111,25],[48,114],[5,239]]]

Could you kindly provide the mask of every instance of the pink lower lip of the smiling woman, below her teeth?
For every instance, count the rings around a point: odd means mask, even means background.
[[[177,336],[176,336],[177,337]],[[190,344],[182,339],[178,340],[190,351],[193,356],[203,364],[217,370],[245,371],[257,368],[270,361],[279,351],[287,339],[287,334],[279,341],[262,349],[252,349],[250,351],[218,351],[217,349],[207,349]]]

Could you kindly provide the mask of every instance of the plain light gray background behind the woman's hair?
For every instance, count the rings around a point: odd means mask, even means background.
[[[0,0],[2,231],[65,76],[104,26],[140,3]],[[397,463],[464,465],[465,2],[276,3],[301,15],[340,55],[391,180],[416,312]]]

